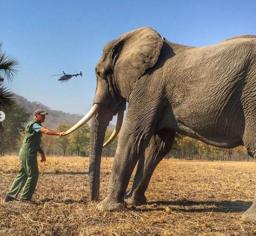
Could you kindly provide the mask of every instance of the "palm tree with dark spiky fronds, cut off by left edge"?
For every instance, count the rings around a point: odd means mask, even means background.
[[[0,110],[7,112],[13,104],[13,94],[4,87],[4,77],[9,81],[16,75],[15,67],[19,65],[17,59],[7,55],[2,50],[2,43],[0,43]],[[3,75],[4,72],[4,75]],[[3,124],[0,122],[0,133],[3,132]]]

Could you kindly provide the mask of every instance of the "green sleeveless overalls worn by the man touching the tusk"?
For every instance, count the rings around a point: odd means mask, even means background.
[[[39,176],[37,151],[40,146],[42,134],[31,130],[31,126],[34,123],[37,122],[32,120],[25,128],[25,138],[19,153],[20,171],[13,181],[10,191],[7,193],[11,197],[16,198],[23,187],[24,189],[20,195],[20,199],[31,200],[35,192],[35,186]]]

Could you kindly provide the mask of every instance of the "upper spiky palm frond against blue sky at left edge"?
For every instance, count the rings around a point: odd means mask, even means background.
[[[12,78],[17,74],[18,70],[15,69],[20,63],[18,59],[7,55],[2,51],[2,43],[0,43],[0,71],[4,71],[4,77],[8,80],[12,80]],[[3,78],[0,75],[0,78]]]

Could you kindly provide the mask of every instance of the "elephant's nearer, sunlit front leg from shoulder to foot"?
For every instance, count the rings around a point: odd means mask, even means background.
[[[144,158],[145,149],[154,134],[157,122],[162,116],[164,102],[159,101],[161,96],[154,98],[153,101],[148,101],[148,97],[141,94],[140,91],[134,90],[134,94],[130,95],[131,102],[126,121],[118,138],[118,146],[110,174],[108,196],[98,204],[100,210],[122,208],[123,197],[134,167],[139,158]]]

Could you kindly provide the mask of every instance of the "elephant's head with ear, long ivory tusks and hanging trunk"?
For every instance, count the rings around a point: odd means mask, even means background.
[[[113,139],[122,125],[126,101],[129,102],[135,81],[157,62],[162,44],[163,39],[158,32],[143,27],[121,35],[103,49],[102,58],[95,67],[97,88],[94,105],[81,121],[66,132],[73,132],[93,118],[89,167],[92,200],[98,199],[100,160],[106,127],[113,115],[118,113],[116,131],[110,138]]]

